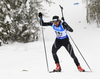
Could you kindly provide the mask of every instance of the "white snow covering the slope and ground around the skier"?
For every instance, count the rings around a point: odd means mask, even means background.
[[[57,3],[47,6],[50,21],[53,15],[61,17],[59,4],[64,8],[67,23],[74,29],[69,33],[93,72],[79,72],[64,47],[58,51],[61,73],[48,73],[42,38],[37,42],[13,43],[0,47],[0,79],[99,79],[100,78],[100,28],[95,24],[86,24],[85,5],[80,0],[55,0]],[[79,5],[74,5],[79,2]],[[55,33],[51,27],[44,27],[49,70],[55,68],[51,48],[55,40]],[[70,39],[79,62],[90,71]]]

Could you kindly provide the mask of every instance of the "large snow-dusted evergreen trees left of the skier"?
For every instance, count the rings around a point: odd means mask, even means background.
[[[43,1],[52,3],[49,0]],[[4,43],[37,41],[38,12],[42,9],[42,0],[0,0],[0,2],[0,39]]]

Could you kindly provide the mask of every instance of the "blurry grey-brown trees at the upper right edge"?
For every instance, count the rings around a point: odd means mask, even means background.
[[[87,23],[96,22],[100,27],[100,0],[86,0]]]

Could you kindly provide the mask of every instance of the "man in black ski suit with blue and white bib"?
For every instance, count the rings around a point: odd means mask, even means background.
[[[84,72],[85,70],[81,68],[80,63],[74,54],[73,47],[69,42],[69,38],[66,32],[66,31],[73,32],[73,29],[65,21],[61,22],[61,20],[59,19],[59,16],[53,16],[51,22],[44,22],[42,18],[42,13],[40,12],[39,18],[40,18],[41,26],[52,26],[52,28],[54,29],[56,33],[56,39],[52,46],[52,55],[56,64],[56,68],[53,70],[53,72],[61,72],[61,66],[59,63],[59,58],[57,56],[57,51],[61,48],[61,46],[64,46],[66,50],[69,52],[78,70],[80,72]]]

